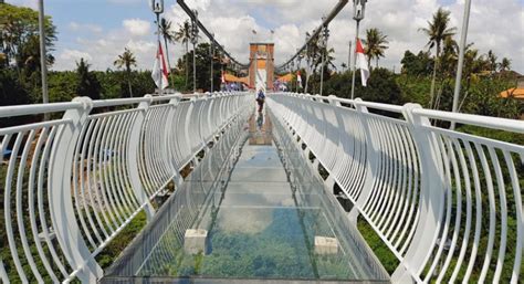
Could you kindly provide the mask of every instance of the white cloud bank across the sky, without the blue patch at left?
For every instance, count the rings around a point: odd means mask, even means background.
[[[199,19],[211,32],[216,33],[218,41],[240,62],[248,62],[249,42],[273,40],[276,44],[276,63],[286,61],[297,48],[302,46],[305,32],[316,28],[321,17],[327,14],[336,2],[336,0],[187,1],[190,8],[197,8]],[[378,28],[388,35],[390,42],[386,59],[380,61],[380,65],[389,69],[396,66],[399,70],[400,60],[406,50],[417,52],[426,49],[427,38],[419,32],[419,29],[427,25],[427,21],[441,3],[442,0],[368,2],[360,34],[363,35],[366,29]],[[460,28],[463,0],[446,0],[446,3],[448,4],[444,4],[444,8],[451,11],[452,24]],[[148,9],[146,4],[144,9]],[[336,51],[338,66],[347,62],[348,42],[355,36],[352,10],[353,7],[349,3],[329,27],[332,35],[329,46]],[[175,28],[187,19],[178,4],[166,7],[165,17],[174,22]],[[476,0],[473,2],[468,41],[474,42],[474,46],[481,53],[486,53],[492,49],[500,59],[504,56],[512,59],[513,69],[524,73],[523,23],[524,6],[521,0]],[[128,19],[123,22],[123,29],[101,33],[92,39],[82,38],[83,46],[77,50],[92,55],[93,66],[105,70],[112,67],[114,57],[122,53],[125,46],[129,46],[136,50],[139,67],[149,69],[155,54],[155,35],[151,27],[149,21]],[[251,33],[253,29],[258,31],[256,36]],[[273,39],[270,30],[275,31]],[[172,62],[182,53],[181,44],[170,45]],[[55,66],[64,69],[60,62]]]

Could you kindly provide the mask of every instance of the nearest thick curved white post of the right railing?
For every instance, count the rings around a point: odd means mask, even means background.
[[[426,129],[431,127],[427,117],[413,115],[413,109],[422,108],[417,104],[407,104],[404,115],[409,130],[417,145],[420,157],[420,218],[415,224],[416,233],[397,271],[392,274],[394,282],[404,283],[419,280],[431,251],[439,236],[439,223],[443,214],[444,172],[442,157],[439,155],[438,138]]]

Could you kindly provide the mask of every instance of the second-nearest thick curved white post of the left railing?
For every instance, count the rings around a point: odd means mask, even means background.
[[[140,206],[145,204],[144,211],[146,212],[147,220],[150,221],[153,215],[155,214],[155,209],[151,206],[150,197],[147,196],[146,190],[140,181],[140,175],[138,169],[138,159],[139,159],[139,146],[140,146],[140,135],[142,128],[146,123],[146,115],[149,106],[153,102],[150,95],[146,95],[148,98],[145,102],[138,104],[137,109],[139,111],[135,122],[132,125],[130,136],[129,136],[129,147],[127,148],[127,168],[129,169],[129,180],[132,182],[133,192],[135,192],[135,197],[140,203]]]

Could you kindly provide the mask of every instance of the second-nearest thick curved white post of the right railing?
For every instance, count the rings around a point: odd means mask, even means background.
[[[367,164],[366,164],[366,180],[364,182],[363,191],[360,196],[358,197],[357,200],[355,200],[355,207],[352,209],[349,212],[349,220],[356,224],[358,215],[360,214],[360,211],[364,206],[366,204],[369,196],[371,194],[374,183],[375,183],[375,177],[377,176],[378,172],[378,167],[379,167],[379,148],[377,145],[376,139],[376,134],[373,132],[371,126],[369,124],[369,120],[367,118],[367,114],[369,114],[369,111],[367,109],[366,106],[360,104],[363,101],[360,98],[356,98],[354,101],[355,105],[355,111],[357,112],[358,119],[360,120],[361,127],[364,129],[364,135],[366,137],[366,157],[367,157]]]

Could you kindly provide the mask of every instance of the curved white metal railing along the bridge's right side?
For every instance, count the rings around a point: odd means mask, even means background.
[[[522,281],[524,146],[430,119],[523,135],[524,122],[334,96],[268,104],[400,261],[394,282]]]

